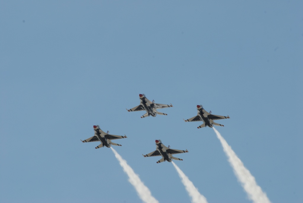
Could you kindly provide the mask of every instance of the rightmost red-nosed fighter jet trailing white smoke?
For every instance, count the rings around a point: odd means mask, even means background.
[[[185,122],[203,121],[203,124],[198,126],[198,128],[202,128],[202,127],[206,127],[206,126],[212,128],[214,125],[224,126],[224,125],[215,123],[214,120],[230,118],[228,115],[227,116],[213,115],[213,114],[211,114],[211,111],[209,111],[209,113],[208,113],[207,111],[205,111],[205,109],[203,108],[202,105],[197,105],[197,111],[198,111],[197,116],[194,116],[187,120],[184,120],[184,119],[183,120]]]

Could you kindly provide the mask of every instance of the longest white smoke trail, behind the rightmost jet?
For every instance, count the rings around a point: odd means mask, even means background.
[[[235,152],[231,149],[231,146],[227,144],[225,139],[220,133],[213,127],[218,139],[221,142],[223,150],[228,157],[228,161],[234,170],[234,173],[241,183],[242,187],[246,191],[248,198],[255,203],[270,203],[266,194],[262,191],[261,187],[257,185],[255,177],[245,168],[242,161],[238,158]]]

